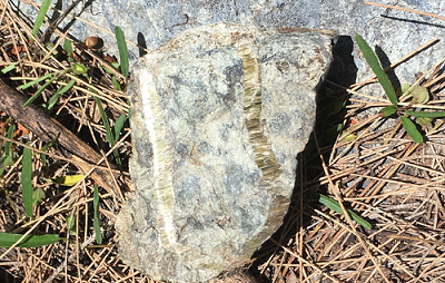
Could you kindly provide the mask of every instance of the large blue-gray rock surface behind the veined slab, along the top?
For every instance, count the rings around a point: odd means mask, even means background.
[[[36,2],[41,1],[36,0]],[[60,8],[66,9],[72,0],[59,2],[62,3]],[[445,14],[445,1],[395,2],[400,7]],[[96,0],[87,3],[90,6],[80,14],[82,19],[109,31],[119,26],[129,40],[145,41],[150,50],[157,49],[181,31],[211,22],[227,21],[275,28],[286,26],[336,29],[339,35],[353,38],[357,32],[368,41],[369,46],[379,46],[394,62],[431,39],[442,38],[445,26],[438,19],[367,6],[363,0]],[[82,7],[80,4],[75,11],[80,12]],[[19,9],[27,16],[37,14],[33,8],[23,2]],[[49,14],[52,16],[51,12]],[[113,35],[79,20],[73,22],[70,31],[80,40],[99,35],[106,42],[106,49],[118,55]],[[372,71],[358,55],[358,48],[356,46],[354,48],[353,55],[358,68],[357,81],[360,81],[368,78]],[[129,46],[129,50],[134,64],[139,58],[139,50],[134,46]],[[396,68],[397,77],[402,82],[413,82],[414,74],[425,71],[441,60],[444,56],[443,50],[445,50],[444,42],[439,42],[426,52],[417,55]]]

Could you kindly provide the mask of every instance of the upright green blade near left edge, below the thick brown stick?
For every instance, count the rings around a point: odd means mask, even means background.
[[[21,160],[21,192],[24,212],[28,217],[32,216],[32,153],[31,149],[23,148],[23,159]]]

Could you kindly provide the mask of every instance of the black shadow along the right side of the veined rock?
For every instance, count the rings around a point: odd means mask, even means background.
[[[356,82],[357,67],[354,62],[353,39],[349,36],[340,36],[333,48],[333,64],[325,79],[320,81],[317,91],[317,120],[315,133],[319,143],[322,153],[327,160],[337,137],[337,126],[343,123],[346,114],[344,101],[347,98],[345,88]],[[335,86],[334,84],[338,85]],[[340,87],[342,86],[342,87]],[[336,108],[342,108],[336,113]],[[310,180],[318,182],[319,177],[324,176],[318,149],[316,147],[314,135],[312,135],[305,150],[298,156],[297,182],[291,197],[289,212],[287,213],[281,227],[271,236],[269,241],[263,244],[253,258],[256,258],[251,264],[249,272],[258,280],[258,282],[269,282],[270,279],[260,274],[259,266],[265,264],[270,256],[280,253],[280,247],[277,243],[287,246],[291,238],[295,238],[296,233],[300,230],[300,213],[304,214],[303,226],[306,227],[312,221],[312,209],[300,212],[300,192],[301,180],[307,183]],[[301,177],[300,177],[301,176]],[[303,187],[305,191],[305,187]],[[322,193],[325,193],[327,187],[320,187]],[[304,199],[308,204],[307,199]],[[318,203],[310,203],[310,206],[320,206]],[[304,255],[305,256],[305,255]]]

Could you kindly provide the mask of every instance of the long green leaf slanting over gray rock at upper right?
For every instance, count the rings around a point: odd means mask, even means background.
[[[377,56],[374,53],[373,49],[368,46],[365,39],[363,39],[358,33],[355,35],[355,40],[360,48],[366,61],[369,64],[370,69],[373,69],[374,74],[377,76],[378,82],[385,90],[385,94],[388,97],[389,101],[396,105],[398,103],[396,92],[394,91],[393,85],[390,85],[388,76],[382,69]]]

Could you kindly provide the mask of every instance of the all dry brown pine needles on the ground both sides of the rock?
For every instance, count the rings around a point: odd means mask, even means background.
[[[4,0],[0,7],[0,66],[17,61],[20,52],[28,55],[14,74],[8,74],[10,86],[17,87],[48,71],[69,67],[63,55],[60,58],[44,58],[43,55],[50,52],[38,40],[33,43],[29,40],[30,25],[11,9],[6,9]],[[61,41],[68,33],[56,29],[55,35]],[[92,95],[100,97],[112,121],[128,111],[126,96],[115,90],[111,77],[101,71],[101,66],[108,64],[103,55],[69,39],[76,47],[77,60],[88,65],[92,72],[89,81],[73,77],[77,79],[73,91],[59,98],[52,116],[70,125],[73,133],[89,140],[96,148],[106,150],[103,155],[109,155],[111,150],[102,140],[105,128],[98,118]],[[431,89],[434,100],[429,106],[436,109],[445,107],[441,95],[443,69],[443,62],[438,62],[437,68],[423,70],[426,77],[418,80]],[[59,84],[63,84],[61,79]],[[388,104],[366,95],[366,86],[372,82],[375,82],[374,78],[350,86],[347,90],[353,96],[346,98],[348,104],[345,113],[336,116],[344,125],[343,134],[333,143],[320,140],[318,144],[318,139],[314,138],[314,150],[300,157],[299,183],[286,223],[264,244],[250,267],[259,281],[445,282],[445,125],[442,119],[435,120],[434,127],[426,129],[427,142],[417,145],[400,127],[395,126],[394,120],[378,115],[364,116],[364,109]],[[49,86],[42,99],[47,101],[56,89],[56,84]],[[345,92],[344,89],[339,92],[330,84],[327,84],[325,90],[337,97]],[[319,120],[325,121],[322,117],[326,117],[326,111],[319,113]],[[2,129],[8,126],[6,116],[1,117],[0,126]],[[130,155],[128,133],[129,129],[125,128],[118,143],[123,164],[127,164]],[[318,128],[315,133],[316,137],[322,136],[326,128]],[[354,138],[345,142],[345,133]],[[36,140],[34,148],[40,149],[42,146],[39,137],[27,129],[17,131],[14,140],[19,154],[21,143]],[[78,173],[75,162],[57,158],[61,155],[63,152],[59,147],[51,147],[50,175]],[[23,217],[21,165],[17,163],[10,166],[1,179],[1,231],[24,233],[32,230],[34,234],[56,233],[67,237],[66,217],[73,215],[76,235],[68,236],[67,243],[59,242],[40,248],[1,248],[0,281],[152,281],[123,265],[117,251],[118,237],[113,222],[122,204],[122,196],[128,197],[126,188],[131,186],[128,185],[130,180],[126,165],[110,189],[99,192],[105,244],[96,245],[91,213],[92,182],[86,178],[68,189],[57,186],[41,178],[40,172],[43,168],[40,156],[36,155],[33,162],[33,186],[44,189],[44,202],[37,206],[34,219]],[[317,189],[335,196],[372,222],[373,230],[366,231],[324,206],[307,203],[303,198],[306,189]],[[247,280],[240,276],[234,281]]]

